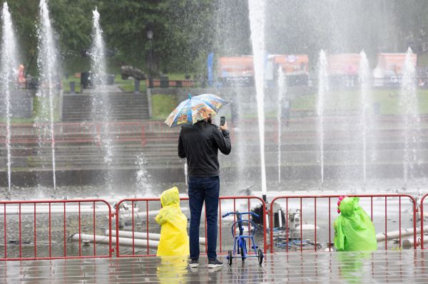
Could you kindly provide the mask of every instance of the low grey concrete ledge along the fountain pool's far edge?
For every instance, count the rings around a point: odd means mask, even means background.
[[[281,168],[282,181],[292,179],[320,179],[320,166],[316,164],[292,164],[284,165]],[[242,175],[248,181],[258,181],[260,179],[260,166],[243,167]],[[136,167],[123,167],[116,169],[58,169],[56,171],[56,181],[58,186],[70,185],[95,185],[106,180],[106,175],[111,172],[115,184],[135,184]],[[147,172],[151,183],[165,182],[185,182],[183,164],[148,166]],[[421,164],[414,168],[414,177],[427,177],[428,164]],[[223,164],[220,167],[220,174],[223,180],[236,181],[240,177],[237,167],[228,167]],[[277,180],[277,166],[266,166],[266,177],[268,180]],[[350,177],[358,180],[362,177],[362,165],[326,165],[324,168],[325,179],[337,179],[340,177]],[[393,179],[402,178],[402,163],[397,164],[370,164],[367,165],[367,178]],[[52,171],[49,169],[32,169],[29,171],[12,172],[12,184],[14,186],[35,186],[43,184],[52,186]],[[0,186],[7,185],[7,172],[0,172]]]

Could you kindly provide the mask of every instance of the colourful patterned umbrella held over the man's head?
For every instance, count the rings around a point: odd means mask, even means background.
[[[203,94],[192,97],[189,94],[189,98],[180,102],[180,105],[168,115],[165,123],[169,127],[195,124],[200,120],[205,120],[205,118],[213,117],[227,103],[218,95]]]

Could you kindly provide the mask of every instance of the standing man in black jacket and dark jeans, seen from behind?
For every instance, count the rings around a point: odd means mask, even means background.
[[[178,138],[178,157],[188,163],[188,194],[190,206],[190,267],[199,266],[200,214],[205,201],[208,238],[208,268],[223,265],[217,259],[217,217],[220,191],[218,150],[229,154],[231,150],[228,125],[217,127],[211,117],[183,125]]]

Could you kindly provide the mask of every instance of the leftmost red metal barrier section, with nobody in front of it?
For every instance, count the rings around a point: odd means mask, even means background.
[[[102,204],[103,207],[97,207],[97,204]],[[0,235],[0,242],[4,245],[0,261],[111,258],[111,249],[106,254],[96,251],[95,235],[99,229],[96,226],[97,213],[107,215],[108,230],[111,231],[111,206],[101,199],[0,201],[0,215],[3,214],[0,223],[2,221],[4,227],[2,239]],[[93,230],[93,253],[89,249],[83,249],[81,245],[83,226],[89,230],[88,224]],[[78,248],[74,248],[71,241],[68,241],[70,233],[76,231]],[[53,248],[55,251],[63,250],[62,255],[54,253]],[[111,248],[111,238],[108,248]],[[33,249],[34,253],[31,252]],[[28,256],[29,254],[32,256]]]

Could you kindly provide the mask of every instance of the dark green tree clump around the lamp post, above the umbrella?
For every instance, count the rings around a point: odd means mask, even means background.
[[[114,0],[103,2],[100,13],[106,41],[117,51],[119,64],[146,68],[151,50],[158,69],[190,71],[213,46],[214,4],[210,0]]]

